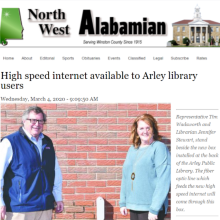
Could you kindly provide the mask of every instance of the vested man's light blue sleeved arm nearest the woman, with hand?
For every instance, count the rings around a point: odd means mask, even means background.
[[[53,196],[57,203],[56,212],[63,211],[63,201],[62,201],[62,173],[60,170],[60,166],[56,157],[55,160],[55,179],[54,179],[54,187],[53,187]]]

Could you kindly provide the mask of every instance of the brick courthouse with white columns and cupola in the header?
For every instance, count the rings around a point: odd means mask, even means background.
[[[219,42],[220,23],[211,20],[202,20],[200,7],[197,5],[193,20],[181,20],[173,25],[173,40],[183,44],[183,39],[188,37],[190,44],[197,46],[208,45],[209,42]]]

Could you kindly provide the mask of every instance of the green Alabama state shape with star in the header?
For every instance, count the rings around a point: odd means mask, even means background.
[[[7,45],[8,39],[23,39],[19,8],[2,8],[0,14],[0,43]]]

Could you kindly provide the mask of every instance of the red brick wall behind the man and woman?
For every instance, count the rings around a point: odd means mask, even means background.
[[[33,104],[32,104],[33,105]],[[21,126],[30,105],[1,104],[1,136]],[[105,219],[125,219],[119,211],[122,165],[134,119],[149,113],[170,148],[170,104],[37,104],[47,114],[44,133],[54,143],[63,173],[65,210],[54,219],[96,219],[96,198],[105,199]],[[129,218],[127,216],[126,218]],[[170,219],[170,207],[167,219]]]

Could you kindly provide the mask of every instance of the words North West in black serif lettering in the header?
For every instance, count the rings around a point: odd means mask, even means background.
[[[29,11],[29,18],[28,20],[48,20],[48,21],[57,21],[57,20],[65,20],[66,15],[61,9],[55,10],[53,12],[39,12],[38,9],[32,10],[28,9]],[[69,25],[65,27],[55,27],[53,24],[39,24],[40,30],[42,34],[48,35],[69,35]]]

